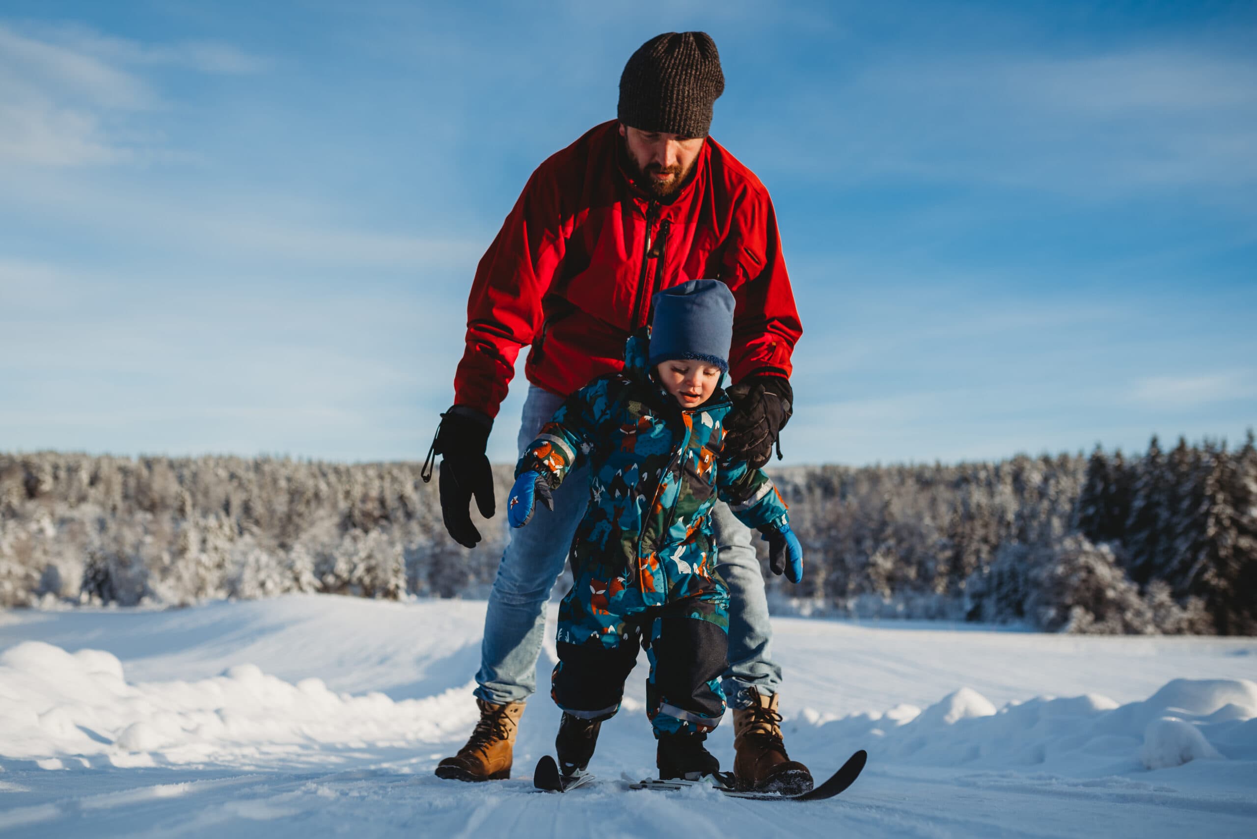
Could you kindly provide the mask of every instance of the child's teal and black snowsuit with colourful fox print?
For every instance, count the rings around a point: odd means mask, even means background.
[[[569,554],[574,583],[559,605],[554,702],[578,717],[610,717],[641,644],[655,735],[705,732],[724,715],[729,625],[711,509],[724,500],[763,533],[787,525],[787,509],[762,470],[722,460],[732,408],[724,392],[683,409],[650,376],[647,342],[646,330],[631,337],[620,373],[568,397],[515,476],[538,472],[557,489],[571,470],[591,466],[590,506]]]

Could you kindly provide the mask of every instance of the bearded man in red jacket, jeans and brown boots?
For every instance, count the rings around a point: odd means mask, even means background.
[[[535,438],[563,398],[623,367],[625,340],[650,323],[652,295],[693,279],[728,284],[735,300],[724,455],[762,466],[791,416],[791,353],[802,334],[777,219],[750,170],[708,137],[724,90],[715,44],[705,33],[666,33],[628,59],[618,118],[596,126],[549,157],[476,269],[468,303],[466,350],[454,406],[441,414],[434,453],[450,535],[474,546],[469,505],[494,514],[485,446],[507,396],[515,358],[530,347],[530,382],[519,445]],[[544,607],[563,570],[587,502],[587,475],[554,492],[514,530],[489,597],[480,722],[436,774],[460,780],[509,777],[523,703],[535,690]],[[781,667],[750,531],[719,504],[713,514],[719,573],[730,590],[729,668],[734,772],[753,789],[782,789],[806,767],[786,755],[777,712]],[[791,789],[788,791],[801,791]]]

